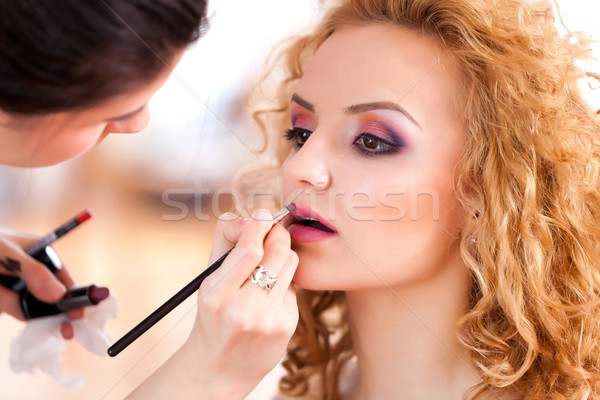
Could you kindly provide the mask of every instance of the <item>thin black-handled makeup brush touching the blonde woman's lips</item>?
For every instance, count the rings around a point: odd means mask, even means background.
[[[294,203],[290,203],[288,206],[282,208],[277,211],[273,215],[273,225],[277,224],[281,220],[283,220],[290,212],[293,213],[296,206]],[[160,321],[165,315],[170,313],[181,304],[185,299],[190,297],[193,293],[195,293],[199,288],[200,284],[207,276],[212,274],[223,264],[225,258],[231,253],[233,247],[229,249],[225,254],[223,254],[217,261],[212,263],[210,267],[206,268],[200,275],[194,278],[190,283],[183,287],[179,292],[175,293],[173,297],[167,300],[163,305],[158,307],[152,314],[148,315],[142,322],[133,327],[129,332],[127,332],[121,339],[117,340],[112,346],[108,348],[108,355],[111,357],[119,354],[123,349],[133,343],[134,340],[139,338],[144,332],[150,329],[154,324]]]

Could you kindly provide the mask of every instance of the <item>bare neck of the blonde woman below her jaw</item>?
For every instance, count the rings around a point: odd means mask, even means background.
[[[358,360],[354,399],[461,399],[479,382],[455,333],[469,278],[464,265],[407,287],[347,292]]]

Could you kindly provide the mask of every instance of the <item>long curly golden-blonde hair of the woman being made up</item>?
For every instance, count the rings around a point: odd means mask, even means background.
[[[590,57],[589,43],[560,34],[545,1],[338,3],[287,43],[275,106],[255,117],[264,125],[276,116],[283,130],[306,63],[341,26],[385,23],[438,38],[462,73],[467,140],[456,192],[476,215],[460,238],[472,292],[457,335],[482,382],[465,398],[600,397],[600,120],[578,86],[598,76],[574,64]],[[300,291],[298,301],[280,389],[337,399],[352,355],[343,293]]]

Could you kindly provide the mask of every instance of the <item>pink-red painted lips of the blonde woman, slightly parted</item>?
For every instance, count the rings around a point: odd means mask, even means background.
[[[288,227],[296,242],[318,242],[337,235],[337,231],[323,217],[308,206],[296,205]]]

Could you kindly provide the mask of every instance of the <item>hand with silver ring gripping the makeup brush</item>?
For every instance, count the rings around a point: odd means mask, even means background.
[[[298,322],[292,285],[298,256],[286,229],[271,229],[268,211],[245,221],[232,217],[217,224],[209,263],[235,247],[200,286],[188,340],[132,398],[172,397],[167,383],[174,376],[186,381],[179,389],[190,395],[201,390],[202,398],[243,398],[283,356]],[[248,280],[259,264],[278,277],[270,291]]]

